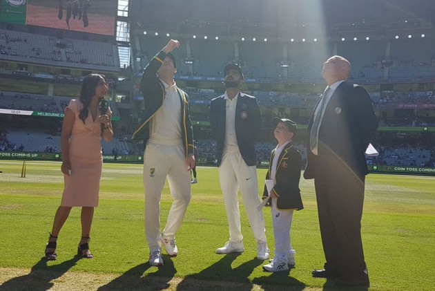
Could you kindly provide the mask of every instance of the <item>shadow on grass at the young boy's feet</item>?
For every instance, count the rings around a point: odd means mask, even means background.
[[[269,273],[264,272],[264,276],[253,279],[252,283],[260,285],[264,291],[274,290],[291,290],[299,291],[304,290],[306,285],[301,281],[294,279],[290,276],[291,269],[287,272]]]

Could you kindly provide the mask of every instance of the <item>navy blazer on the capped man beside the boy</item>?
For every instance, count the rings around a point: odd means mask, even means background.
[[[218,143],[218,167],[222,162],[222,153],[225,142],[226,125],[226,100],[224,95],[211,100],[210,126],[211,131]],[[239,93],[235,105],[235,135],[244,162],[248,166],[257,165],[255,156],[255,138],[262,132],[262,116],[260,106],[255,97]]]

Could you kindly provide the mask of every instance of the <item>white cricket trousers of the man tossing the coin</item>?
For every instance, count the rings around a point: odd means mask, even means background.
[[[150,251],[160,247],[160,198],[166,176],[174,201],[162,234],[173,239],[191,200],[191,172],[187,170],[183,144],[148,142],[144,152],[144,190],[145,235]]]

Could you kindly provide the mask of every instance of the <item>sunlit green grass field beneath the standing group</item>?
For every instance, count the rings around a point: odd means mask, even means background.
[[[301,180],[305,209],[293,216],[296,269],[262,271],[255,240],[241,205],[246,251],[222,256],[228,227],[216,168],[198,167],[198,184],[177,234],[179,255],[164,255],[164,267],[150,267],[144,238],[142,165],[104,164],[91,260],[75,258],[80,238],[79,209],[73,209],[58,239],[57,261],[41,260],[60,203],[59,162],[0,160],[0,290],[333,290],[311,278],[324,256],[312,180]],[[258,170],[260,189],[264,169]],[[434,290],[435,178],[367,176],[363,244],[370,290]],[[165,187],[162,227],[171,206]],[[270,210],[264,210],[273,256]]]

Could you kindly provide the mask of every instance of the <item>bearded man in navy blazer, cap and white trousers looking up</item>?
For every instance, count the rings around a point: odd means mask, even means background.
[[[249,223],[257,240],[257,258],[269,259],[263,213],[257,209],[257,159],[254,141],[262,132],[260,106],[255,97],[241,93],[244,77],[242,68],[228,64],[224,68],[226,91],[211,100],[210,125],[218,143],[220,187],[224,196],[229,241],[216,253],[243,252],[238,190],[242,193]]]

